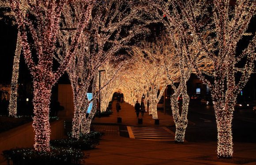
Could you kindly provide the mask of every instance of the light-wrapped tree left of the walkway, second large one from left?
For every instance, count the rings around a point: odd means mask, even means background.
[[[87,99],[88,88],[91,81],[97,77],[98,70],[103,62],[108,60],[118,61],[122,56],[115,56],[120,49],[129,47],[130,40],[134,40],[137,35],[145,33],[143,26],[133,25],[136,19],[136,6],[132,1],[109,0],[95,4],[92,10],[92,18],[83,32],[83,38],[79,44],[76,59],[71,62],[68,68],[68,74],[71,79],[74,93],[75,114],[72,125],[72,136],[79,138],[81,133],[90,132],[90,122],[95,114],[91,111],[86,117],[89,103],[98,97],[93,95],[93,99]],[[123,15],[125,13],[125,15]],[[72,28],[73,19],[69,15],[64,15],[63,21],[64,32],[60,33],[60,42],[68,47],[68,36],[74,35]],[[140,22],[141,23],[141,22]],[[127,27],[131,27],[129,34],[123,34]],[[67,29],[65,31],[65,29]],[[59,50],[59,61],[62,62],[61,52]],[[83,56],[83,57],[82,57]],[[118,67],[117,67],[118,68]],[[102,89],[99,89],[100,93]],[[84,124],[87,123],[87,124]],[[84,126],[83,126],[84,125]]]

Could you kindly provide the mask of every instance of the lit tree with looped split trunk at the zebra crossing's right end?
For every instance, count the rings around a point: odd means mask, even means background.
[[[166,81],[166,84],[171,84],[174,90],[171,97],[171,106],[173,120],[176,125],[175,141],[184,142],[185,130],[188,124],[187,115],[189,104],[186,83],[190,77],[191,71],[188,67],[189,63],[185,61],[184,58],[184,47],[179,43],[179,40],[177,40],[177,38],[176,40],[172,40],[172,38],[169,37],[169,33],[164,33],[163,36],[159,38],[161,38],[161,40],[158,40],[156,43],[143,45],[142,51],[147,53],[148,59],[156,61],[158,67],[166,71],[163,72],[166,78],[168,77],[169,79],[169,81]],[[178,45],[175,45],[177,43]],[[178,87],[174,85],[175,82],[179,82]],[[160,97],[162,96],[161,92],[159,94]],[[181,95],[183,103],[180,114],[178,97]]]

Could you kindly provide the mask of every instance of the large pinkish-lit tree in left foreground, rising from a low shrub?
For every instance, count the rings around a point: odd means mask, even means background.
[[[77,20],[76,34],[71,38],[71,47],[65,52],[64,62],[53,71],[53,56],[56,40],[60,31],[60,17],[63,8],[71,1],[48,0],[12,0],[11,9],[21,36],[21,44],[26,64],[32,74],[34,88],[34,148],[38,151],[49,151],[50,125],[49,103],[53,84],[66,70],[70,59],[75,55],[81,32],[89,20],[91,2],[80,1],[80,10],[84,16]],[[22,13],[23,3],[28,4],[26,13]],[[33,52],[33,53],[32,53]]]

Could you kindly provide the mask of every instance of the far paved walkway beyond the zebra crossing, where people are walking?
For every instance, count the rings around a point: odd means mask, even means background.
[[[154,119],[152,119],[152,115],[149,115],[148,112],[144,114],[144,117],[139,114],[139,118],[143,119],[143,124],[138,124],[138,118],[136,117],[136,113],[134,110],[134,106],[128,103],[120,103],[121,110],[117,113],[116,110],[117,101],[113,101],[112,111],[109,117],[95,117],[92,121],[93,124],[117,124],[117,125],[129,125],[129,126],[142,126],[142,127],[169,127],[174,125],[173,117],[170,115],[165,115],[164,113],[158,111],[158,119],[159,125],[154,124]],[[117,123],[117,117],[122,118],[121,123]]]

